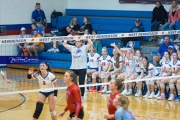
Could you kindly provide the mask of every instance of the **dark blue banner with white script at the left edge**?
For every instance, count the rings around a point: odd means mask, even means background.
[[[0,56],[0,64],[39,64],[39,57]]]

